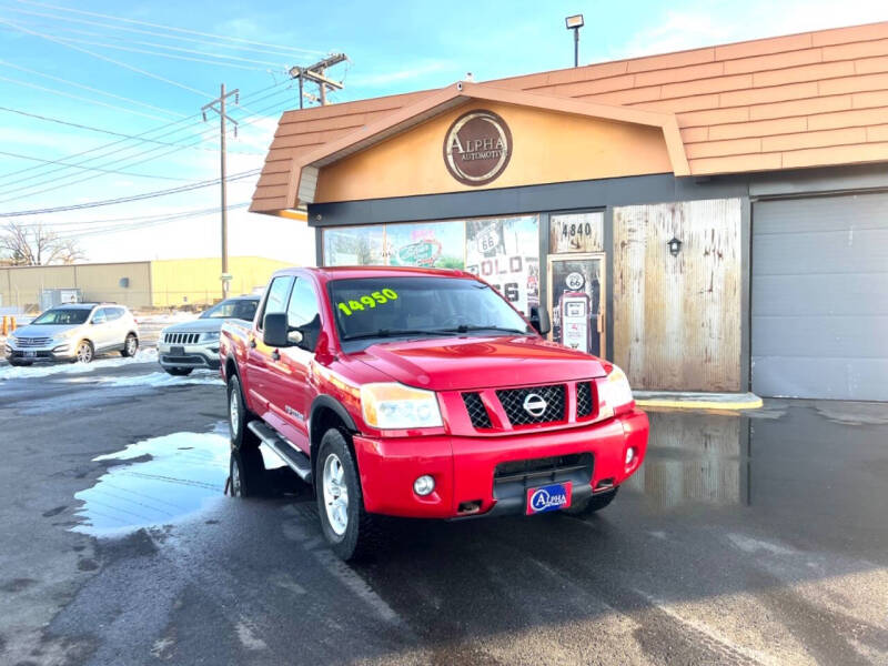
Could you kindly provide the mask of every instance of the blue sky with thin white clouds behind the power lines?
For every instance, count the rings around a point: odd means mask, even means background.
[[[280,112],[297,104],[285,75],[290,65],[346,52],[350,62],[331,71],[346,87],[333,101],[441,87],[470,71],[488,80],[558,69],[573,59],[564,17],[579,12],[586,18],[581,62],[588,63],[886,20],[888,4],[0,0],[0,108],[7,109],[0,110],[0,152],[8,153],[0,154],[0,212],[85,204],[216,176],[218,125],[195,114],[222,81],[244,94],[231,112],[244,124],[230,140],[229,172],[249,173],[261,165]],[[94,130],[147,132],[151,141]],[[246,202],[254,181],[231,183],[230,203]],[[203,188],[19,220],[74,235],[92,261],[209,256],[218,252],[216,213],[165,218],[218,205],[218,188]],[[310,234],[296,223],[243,208],[231,220],[232,254],[313,258]]]

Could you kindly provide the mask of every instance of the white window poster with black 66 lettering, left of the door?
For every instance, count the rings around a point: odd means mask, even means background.
[[[524,314],[539,305],[539,223],[536,215],[465,223],[465,269],[494,285]]]

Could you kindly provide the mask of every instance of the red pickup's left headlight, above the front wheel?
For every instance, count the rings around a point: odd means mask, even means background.
[[[403,384],[365,384],[361,387],[361,411],[364,422],[380,430],[444,424],[434,392]]]

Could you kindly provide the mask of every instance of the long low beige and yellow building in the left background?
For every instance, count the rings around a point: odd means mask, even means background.
[[[274,271],[287,265],[262,256],[232,256],[229,293],[265,286]],[[44,290],[79,290],[83,301],[114,301],[130,307],[201,305],[222,294],[218,258],[0,268],[0,305],[39,309]]]

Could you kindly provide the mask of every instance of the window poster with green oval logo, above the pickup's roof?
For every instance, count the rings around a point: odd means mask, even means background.
[[[462,269],[465,224],[462,221],[389,224],[385,244],[385,255],[393,266]]]

